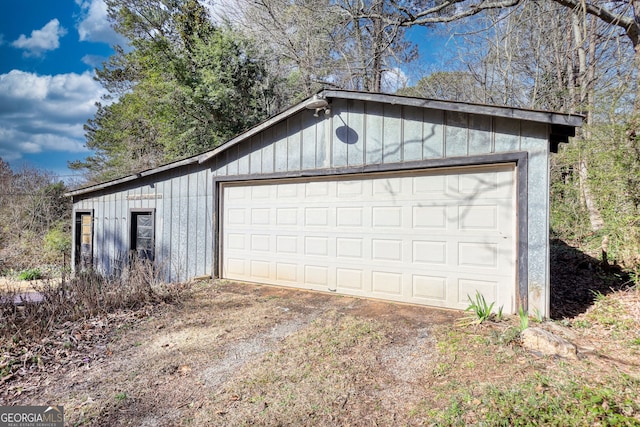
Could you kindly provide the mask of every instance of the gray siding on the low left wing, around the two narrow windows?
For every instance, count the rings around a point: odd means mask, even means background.
[[[148,209],[154,212],[155,260],[164,279],[181,281],[211,274],[210,187],[210,172],[190,167],[76,202],[75,210],[93,211],[94,268],[106,274],[121,268],[130,247],[130,212]]]

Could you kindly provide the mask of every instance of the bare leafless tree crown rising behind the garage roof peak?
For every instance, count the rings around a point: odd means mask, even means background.
[[[265,41],[292,92],[309,96],[329,86],[388,91],[385,75],[416,58],[406,28],[379,15],[384,0],[245,0],[238,28]]]

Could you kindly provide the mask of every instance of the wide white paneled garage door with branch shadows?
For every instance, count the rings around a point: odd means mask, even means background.
[[[226,183],[222,277],[515,311],[513,165]]]

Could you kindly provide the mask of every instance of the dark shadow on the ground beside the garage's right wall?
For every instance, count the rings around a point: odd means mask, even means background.
[[[587,311],[596,295],[631,285],[631,278],[619,266],[605,265],[562,240],[551,240],[552,319],[575,317]]]

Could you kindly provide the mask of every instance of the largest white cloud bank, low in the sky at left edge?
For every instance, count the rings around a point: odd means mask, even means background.
[[[14,161],[34,153],[86,152],[83,126],[104,93],[89,72],[0,74],[0,157]]]

